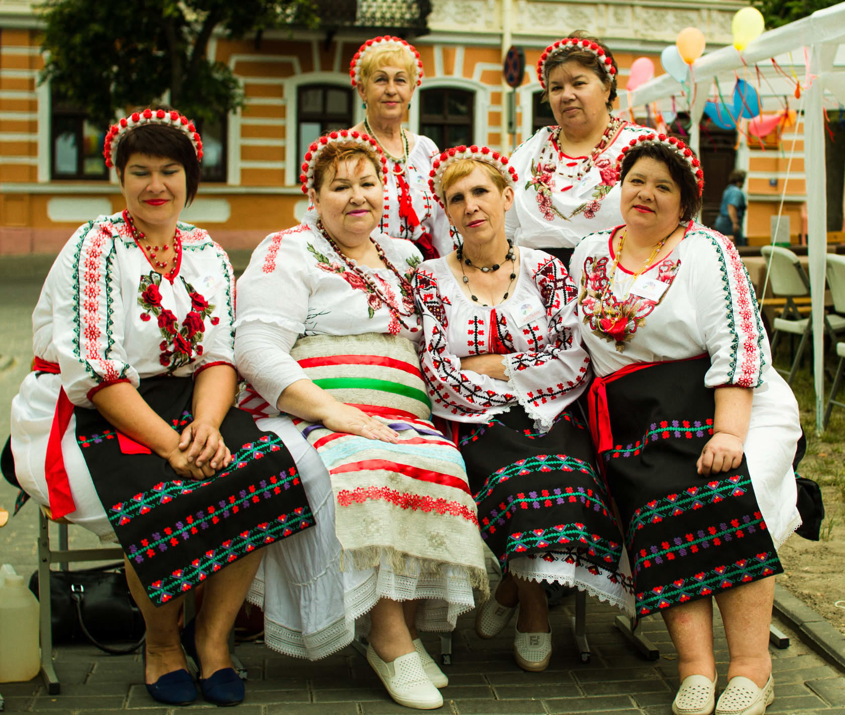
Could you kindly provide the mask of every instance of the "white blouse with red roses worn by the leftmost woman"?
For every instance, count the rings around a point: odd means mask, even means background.
[[[208,233],[177,225],[181,259],[171,280],[155,272],[123,214],[80,226],[53,263],[32,314],[33,349],[58,363],[68,398],[115,382],[189,376],[234,366],[234,279]]]

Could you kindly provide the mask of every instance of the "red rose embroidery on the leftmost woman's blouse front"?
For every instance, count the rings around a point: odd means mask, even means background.
[[[148,275],[141,276],[138,286],[138,304],[144,309],[141,313],[141,320],[150,321],[152,316],[158,321],[159,331],[163,340],[159,345],[161,355],[159,362],[167,368],[168,372],[178,370],[184,365],[194,362],[194,355],[203,354],[203,346],[200,340],[205,334],[205,318],[211,316],[214,307],[200,295],[194,286],[187,280],[179,277],[188,290],[191,299],[191,310],[185,316],[181,325],[178,324],[176,315],[161,305],[161,274],[150,271]],[[211,317],[211,324],[220,322],[219,317]]]

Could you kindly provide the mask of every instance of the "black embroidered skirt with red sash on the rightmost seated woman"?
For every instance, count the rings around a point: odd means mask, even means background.
[[[781,573],[745,458],[728,472],[696,471],[716,411],[704,384],[709,357],[632,367],[597,378],[589,399],[625,526],[636,614]]]

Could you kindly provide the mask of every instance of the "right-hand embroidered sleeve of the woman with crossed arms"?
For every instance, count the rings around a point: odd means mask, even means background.
[[[559,259],[545,256],[532,272],[548,319],[544,346],[505,356],[504,374],[526,414],[540,431],[584,392],[590,357],[581,344],[578,291]],[[526,328],[531,329],[532,323]],[[535,343],[536,344],[536,343]]]

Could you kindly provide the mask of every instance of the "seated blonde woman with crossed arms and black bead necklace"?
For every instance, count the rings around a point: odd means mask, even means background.
[[[542,582],[630,601],[619,527],[572,409],[590,374],[575,286],[557,258],[505,237],[517,181],[506,157],[461,146],[434,167],[433,190],[463,243],[413,281],[423,374],[434,414],[460,428],[482,537],[504,574],[476,630],[495,636],[519,604],[515,659],[540,671],[552,653]]]

